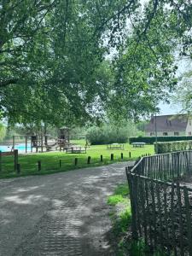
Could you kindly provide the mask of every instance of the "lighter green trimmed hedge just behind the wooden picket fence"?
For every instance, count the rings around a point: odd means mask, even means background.
[[[188,150],[192,148],[192,141],[177,141],[169,143],[155,143],[154,144],[156,154],[164,154],[175,151]]]

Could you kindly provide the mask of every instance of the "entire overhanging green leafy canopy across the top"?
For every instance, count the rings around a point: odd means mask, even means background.
[[[55,125],[137,118],[191,57],[190,1],[0,1],[1,114]],[[113,55],[110,53],[113,52]]]

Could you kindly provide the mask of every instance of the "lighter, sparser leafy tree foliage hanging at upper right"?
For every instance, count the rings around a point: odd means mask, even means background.
[[[122,113],[138,119],[156,112],[160,100],[168,100],[177,85],[175,49],[182,46],[177,50],[181,56],[187,55],[183,49],[189,50],[189,44],[184,45],[191,27],[186,14],[191,13],[191,7],[183,1],[148,1],[143,12],[129,14],[131,35],[113,61],[110,108],[115,119]]]

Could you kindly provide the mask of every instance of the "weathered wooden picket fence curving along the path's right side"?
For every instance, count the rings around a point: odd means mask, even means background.
[[[126,168],[132,237],[143,238],[152,252],[192,256],[192,186],[177,181],[191,175],[191,164],[192,151],[182,151],[143,157]]]

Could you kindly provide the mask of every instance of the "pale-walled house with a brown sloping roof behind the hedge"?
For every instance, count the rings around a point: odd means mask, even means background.
[[[157,136],[191,136],[192,119],[186,114],[156,116]],[[145,127],[148,137],[155,136],[155,117],[152,116]]]

